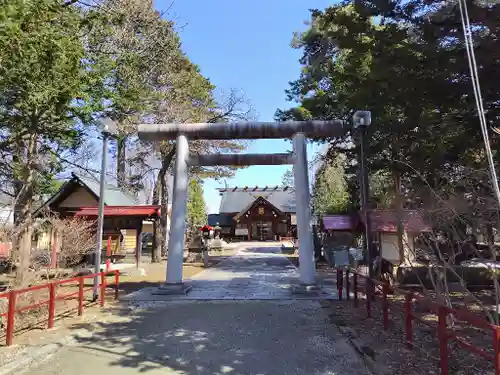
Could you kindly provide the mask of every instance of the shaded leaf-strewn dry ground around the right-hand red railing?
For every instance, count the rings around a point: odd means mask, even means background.
[[[336,279],[335,271],[327,268],[319,270],[319,275],[323,279]],[[405,341],[404,296],[394,294],[388,297],[388,331],[383,328],[381,296],[377,296],[376,302],[372,304],[371,318],[367,318],[366,300],[361,297],[360,295],[357,308],[352,301],[328,303],[332,323],[348,328],[366,346],[367,352],[373,354],[375,361],[389,369],[388,373],[391,375],[439,374],[439,342],[437,329],[434,328],[437,316],[431,309],[421,303],[414,304],[414,313],[431,327],[414,321],[414,348],[410,349]],[[460,300],[459,295],[453,297]],[[470,305],[468,307],[471,310]],[[454,330],[465,341],[492,353],[491,332],[474,328],[465,322],[456,322]],[[493,374],[493,364],[490,361],[459,348],[453,341],[449,342],[449,363],[451,375]]]

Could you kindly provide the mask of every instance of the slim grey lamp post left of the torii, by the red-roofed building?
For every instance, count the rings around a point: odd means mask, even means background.
[[[101,180],[99,183],[99,211],[97,214],[97,247],[95,249],[95,273],[101,272],[102,235],[104,231],[104,192],[106,186],[106,168],[108,166],[109,138],[116,135],[116,124],[108,118],[100,120],[102,135]],[[94,299],[99,296],[99,276],[94,277]]]

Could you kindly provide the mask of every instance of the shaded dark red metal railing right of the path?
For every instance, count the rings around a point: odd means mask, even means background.
[[[349,275],[352,274],[352,282]],[[381,309],[383,316],[383,327],[384,330],[389,329],[389,299],[388,294],[393,291],[399,291],[404,294],[404,307],[403,307],[403,315],[404,315],[404,332],[405,332],[405,341],[409,348],[414,347],[413,345],[413,321],[418,321],[426,326],[433,328],[437,333],[437,339],[439,342],[439,368],[441,371],[441,375],[449,375],[449,342],[454,340],[458,346],[469,351],[472,354],[483,357],[491,362],[493,362],[493,366],[495,368],[495,375],[500,375],[500,326],[490,324],[485,319],[478,317],[477,315],[466,311],[450,308],[448,306],[444,306],[438,304],[434,301],[429,300],[428,298],[418,296],[414,292],[402,291],[391,288],[389,284],[380,282],[378,280],[370,279],[365,275],[361,275],[352,270],[345,270],[345,278],[344,278],[344,270],[337,269],[337,289],[339,299],[342,300],[343,297],[343,289],[345,284],[346,290],[346,299],[349,300],[351,297],[351,287],[352,287],[352,297],[354,307],[358,307],[359,299],[358,293],[360,292],[359,288],[359,278],[363,278],[367,284],[365,286],[367,288],[373,288],[376,293],[373,293],[373,298],[365,298],[365,308],[366,314],[368,317],[372,315],[372,301],[376,301],[375,296],[381,295]],[[352,284],[352,285],[351,285]],[[371,285],[373,284],[373,285]],[[437,324],[429,323],[425,321],[422,316],[419,316],[413,311],[413,303],[419,302],[424,304],[430,311],[438,317]],[[493,354],[489,353],[485,349],[477,348],[471,343],[465,341],[462,337],[457,336],[457,334],[448,327],[447,320],[450,317],[454,317],[457,320],[468,323],[469,325],[480,328],[483,330],[488,330],[492,334],[492,351]]]

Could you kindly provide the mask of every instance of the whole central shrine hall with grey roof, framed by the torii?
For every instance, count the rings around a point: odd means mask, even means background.
[[[272,241],[297,237],[295,191],[291,187],[226,187],[219,214],[208,215],[223,238]]]

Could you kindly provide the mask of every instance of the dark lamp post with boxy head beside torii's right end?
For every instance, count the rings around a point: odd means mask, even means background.
[[[359,134],[359,167],[360,167],[360,187],[361,187],[361,213],[365,223],[365,251],[366,262],[368,263],[368,277],[373,278],[373,259],[372,259],[372,226],[371,218],[368,212],[368,200],[370,197],[370,186],[368,182],[368,170],[366,169],[366,129],[372,122],[370,111],[356,111],[352,118],[353,128]],[[367,298],[372,297],[373,287],[370,282],[367,283]]]

